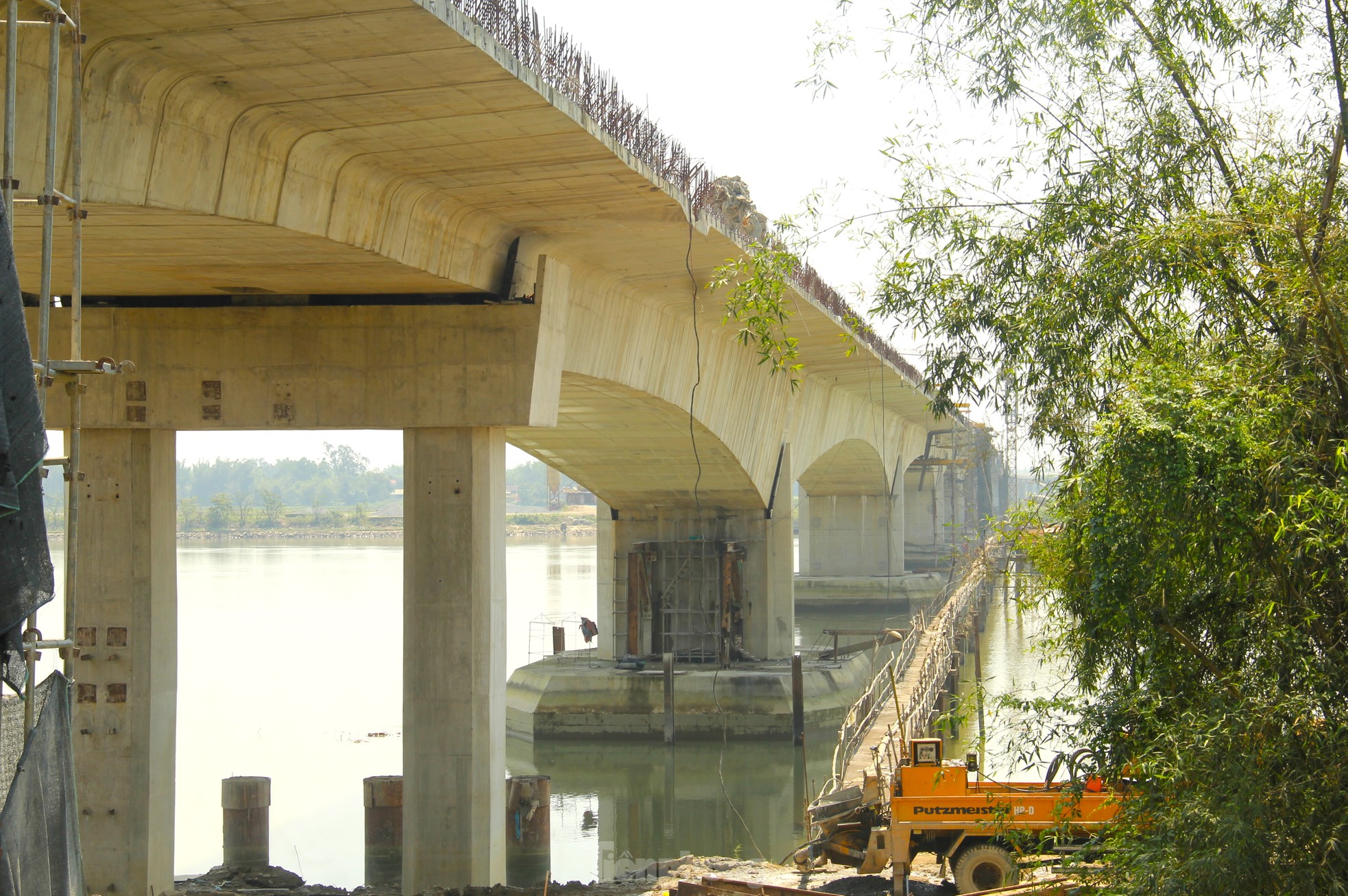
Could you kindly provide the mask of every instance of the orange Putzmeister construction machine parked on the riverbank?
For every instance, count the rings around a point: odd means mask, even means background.
[[[1078,765],[1086,750],[1061,755],[1045,781],[971,779],[977,757],[944,761],[940,738],[909,741],[907,761],[892,781],[865,775],[859,786],[821,796],[810,807],[817,835],[795,853],[809,866],[829,860],[875,873],[894,865],[894,892],[907,892],[918,853],[949,861],[961,893],[1015,884],[1019,834],[1051,833],[1055,849],[1096,837],[1117,812],[1122,794]],[[1066,768],[1068,780],[1054,781]]]

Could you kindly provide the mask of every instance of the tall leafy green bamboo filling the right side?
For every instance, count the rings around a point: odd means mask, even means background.
[[[1138,781],[1109,887],[1344,893],[1344,7],[888,22],[895,74],[1020,135],[981,167],[896,137],[902,186],[855,229],[887,252],[876,313],[930,345],[936,407],[1016,406],[1060,451],[1061,534],[1031,550],[1080,691],[1030,709]]]

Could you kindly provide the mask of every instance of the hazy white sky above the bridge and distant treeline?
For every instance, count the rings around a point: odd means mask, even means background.
[[[740,175],[768,217],[793,212],[818,187],[847,182],[838,217],[874,207],[892,183],[880,154],[884,137],[910,127],[914,110],[938,105],[927,121],[976,133],[954,102],[913,85],[884,81],[874,47],[830,69],[838,89],[814,98],[795,86],[809,73],[817,22],[834,15],[833,0],[683,0],[632,4],[613,0],[537,0],[550,24],[568,30],[613,73],[624,93],[646,105],[667,133],[716,174]],[[857,4],[863,5],[863,4]],[[869,19],[867,18],[869,16]],[[853,12],[860,43],[875,36],[876,12]],[[941,112],[949,121],[941,121]],[[834,240],[810,260],[840,290],[869,282],[874,257]],[[896,344],[906,345],[903,334]],[[917,358],[914,358],[917,360]],[[317,457],[324,442],[345,442],[383,466],[402,462],[396,431],[179,433],[187,462],[216,457]],[[528,459],[510,449],[507,463]]]

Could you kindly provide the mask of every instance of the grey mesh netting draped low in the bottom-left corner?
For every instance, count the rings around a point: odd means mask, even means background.
[[[70,680],[34,689],[32,734],[23,701],[0,699],[0,896],[85,896],[80,814],[70,753]],[[27,742],[24,742],[27,740]]]

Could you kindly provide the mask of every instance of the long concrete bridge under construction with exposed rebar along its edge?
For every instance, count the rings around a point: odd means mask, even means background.
[[[173,889],[179,430],[403,431],[410,893],[504,877],[507,441],[604,501],[608,632],[628,633],[628,546],[714,538],[741,546],[737,635],[768,658],[793,649],[793,482],[813,575],[902,574],[996,503],[954,437],[933,441],[950,424],[915,371],[868,333],[844,354],[845,307],[810,272],[790,295],[803,381],[768,376],[697,288],[743,253],[752,209],[559,36],[464,7],[117,0],[85,5],[75,75],[62,44],[81,129],[58,125],[61,197],[16,194],[20,283],[38,292],[43,214],[73,198],[82,279],[58,229],[53,357],[80,309],[73,353],[135,362],[86,377],[73,484],[92,892]],[[44,30],[15,58],[32,187]],[[66,415],[53,393],[49,427]]]

